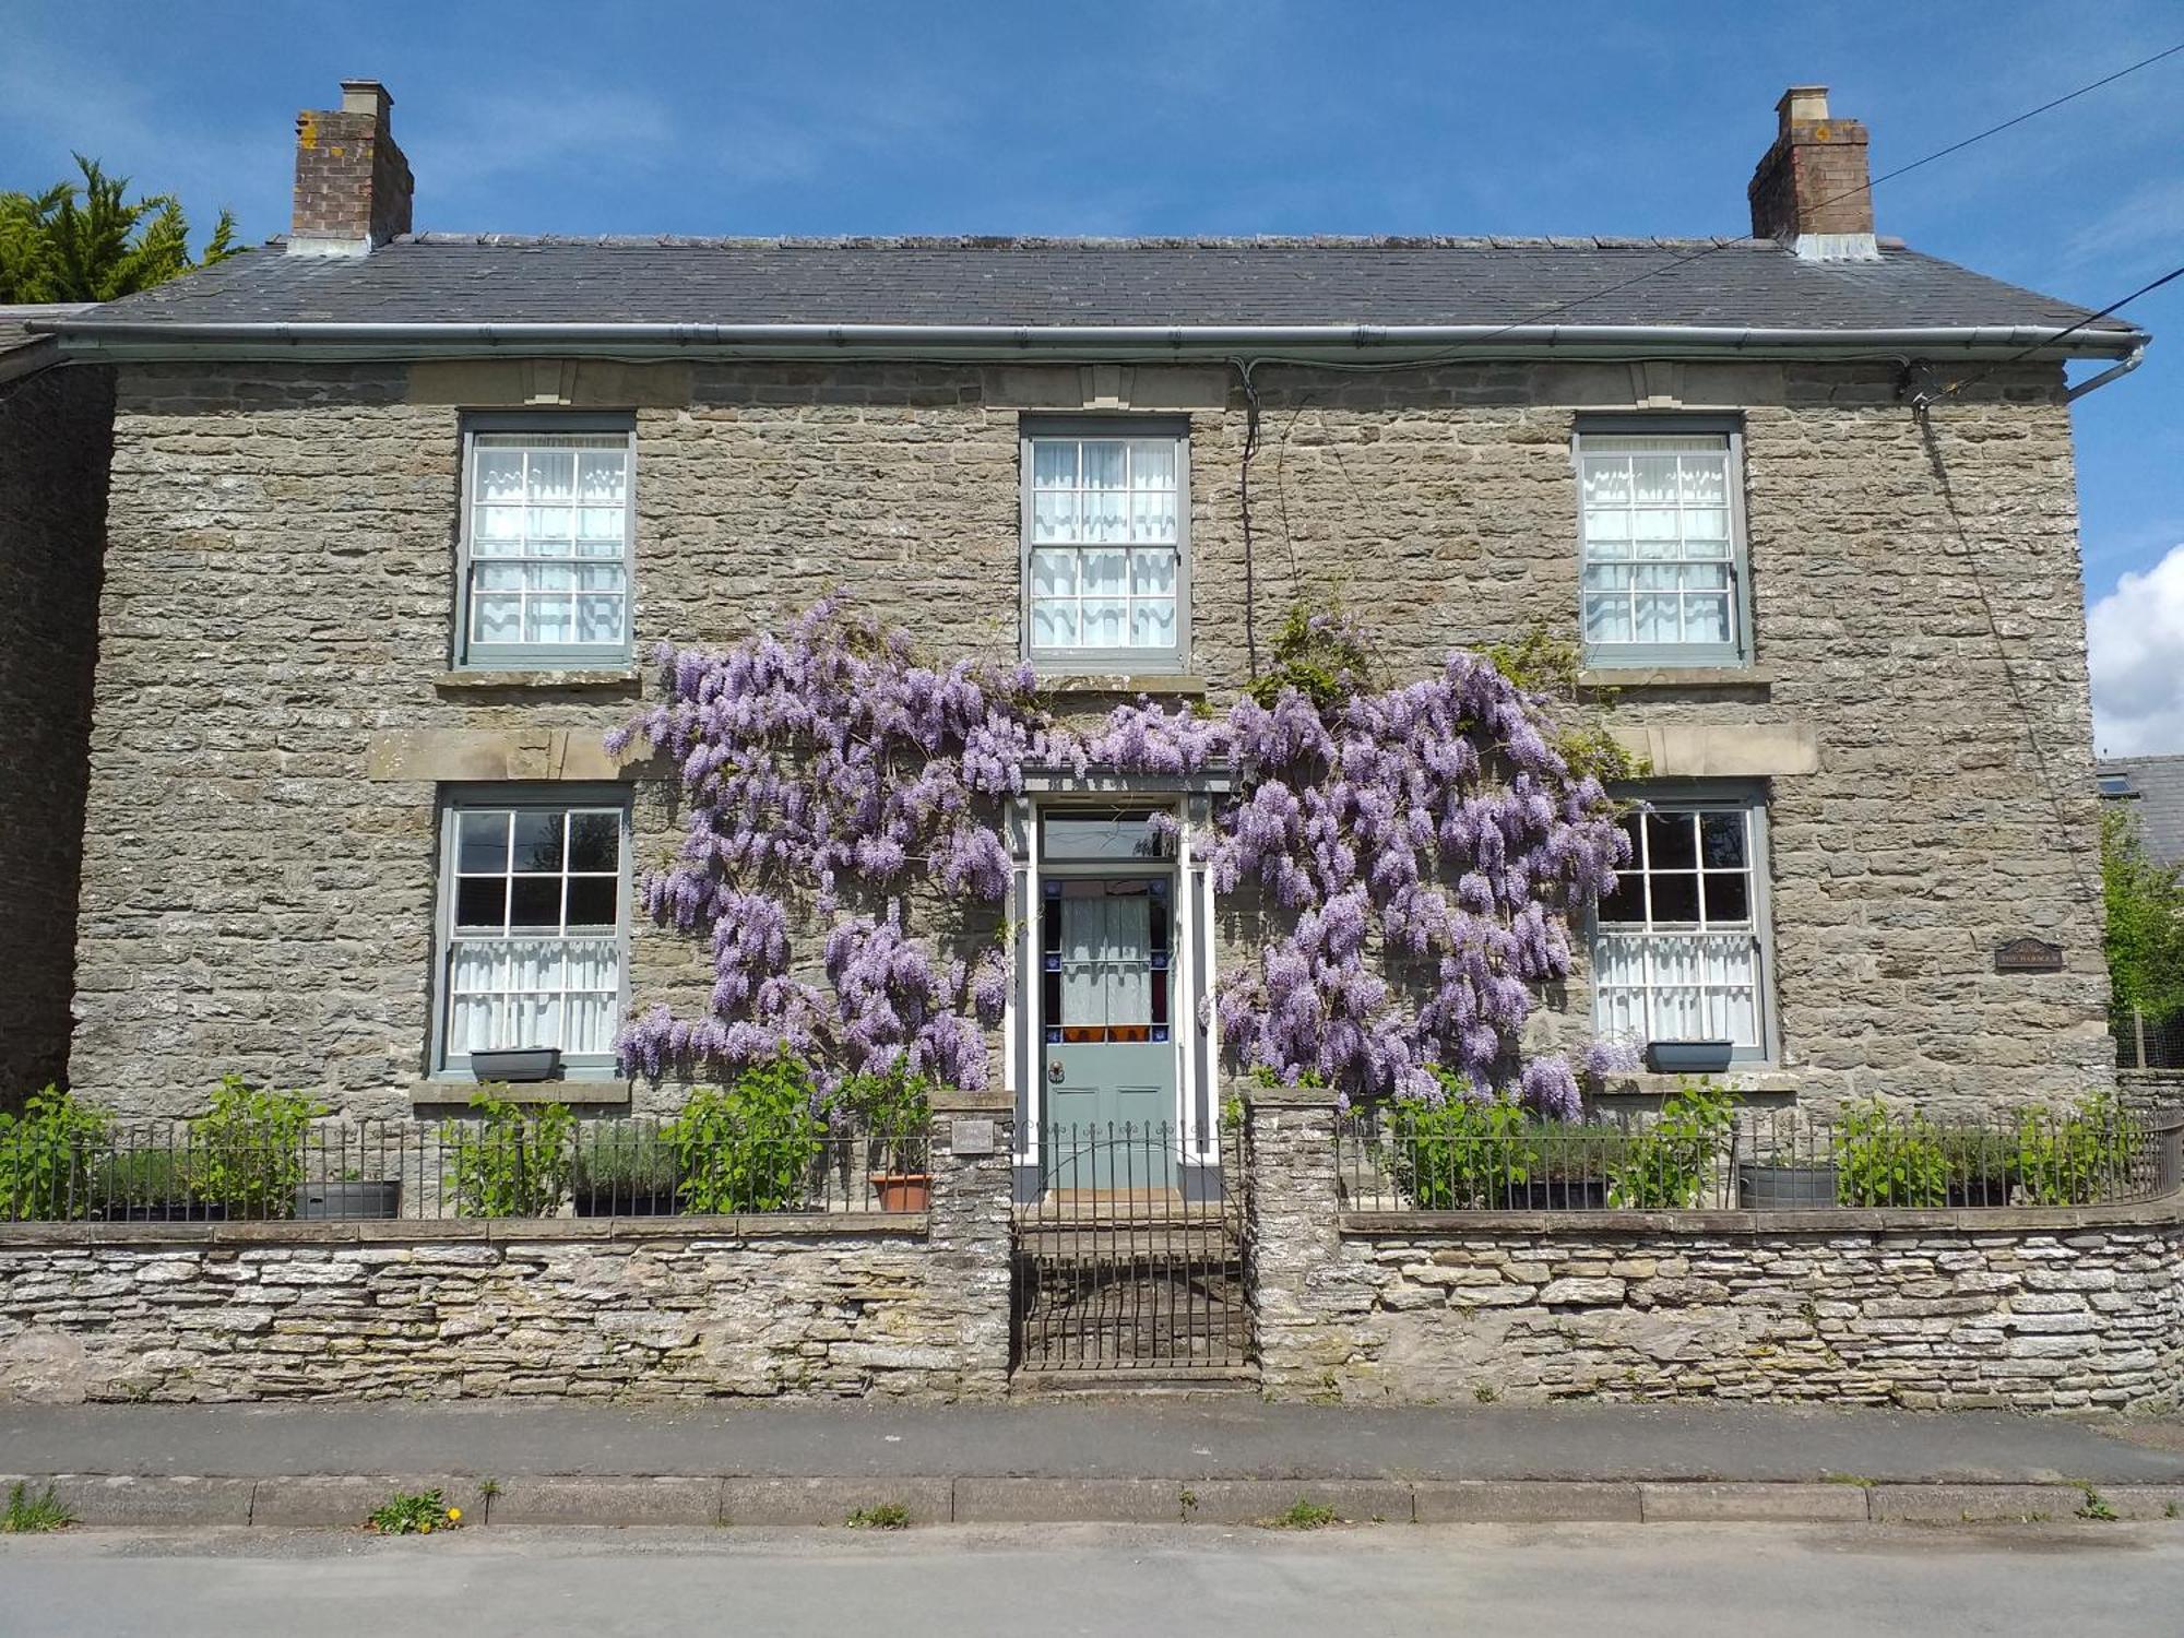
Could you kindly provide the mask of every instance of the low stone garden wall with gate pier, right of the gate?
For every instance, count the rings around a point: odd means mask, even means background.
[[[1334,1112],[1254,1096],[1278,1398],[2171,1411],[2184,1197],[1992,1212],[1354,1212]]]

